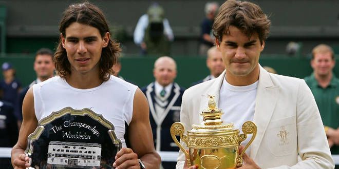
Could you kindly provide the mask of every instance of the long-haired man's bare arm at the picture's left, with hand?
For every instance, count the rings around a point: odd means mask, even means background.
[[[23,102],[23,123],[19,137],[11,152],[11,160],[14,168],[26,168],[29,166],[28,157],[25,156],[24,152],[27,147],[28,135],[34,132],[36,126],[37,119],[34,111],[33,89],[30,88]]]

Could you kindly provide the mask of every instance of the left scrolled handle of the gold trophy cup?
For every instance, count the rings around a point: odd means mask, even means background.
[[[187,159],[187,166],[191,166],[191,162],[189,159],[190,158],[189,153],[186,152],[184,147],[179,143],[179,141],[175,137],[175,136],[180,136],[180,139],[187,145],[187,136],[183,134],[184,131],[185,131],[185,127],[182,125],[181,122],[175,122],[171,126],[172,139],[179,146],[180,150],[185,154],[186,159]]]

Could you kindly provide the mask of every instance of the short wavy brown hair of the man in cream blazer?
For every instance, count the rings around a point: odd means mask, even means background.
[[[230,26],[235,26],[248,37],[255,32],[258,33],[262,44],[268,37],[270,25],[271,21],[258,5],[229,0],[219,8],[219,13],[213,23],[213,35],[221,42],[222,35],[229,33]]]

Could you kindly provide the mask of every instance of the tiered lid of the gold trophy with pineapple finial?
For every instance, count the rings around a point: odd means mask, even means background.
[[[233,129],[233,123],[223,123],[221,115],[223,114],[220,109],[216,107],[214,96],[208,95],[208,108],[203,110],[200,115],[203,116],[203,121],[200,124],[193,124],[192,134],[236,134],[239,133],[238,129]]]

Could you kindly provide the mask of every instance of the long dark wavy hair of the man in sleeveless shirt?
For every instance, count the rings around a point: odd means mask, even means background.
[[[70,5],[64,11],[59,25],[59,31],[64,37],[66,36],[66,28],[72,23],[95,27],[99,30],[101,37],[103,37],[105,33],[110,32],[103,12],[97,6],[88,2]],[[119,43],[109,39],[107,47],[102,49],[99,61],[99,78],[103,81],[107,81],[113,73],[111,68],[116,63],[119,52],[121,51],[119,46]],[[59,38],[59,44],[54,53],[54,63],[56,73],[58,73],[60,77],[65,78],[71,74],[70,63],[66,50],[62,46],[61,37]]]

